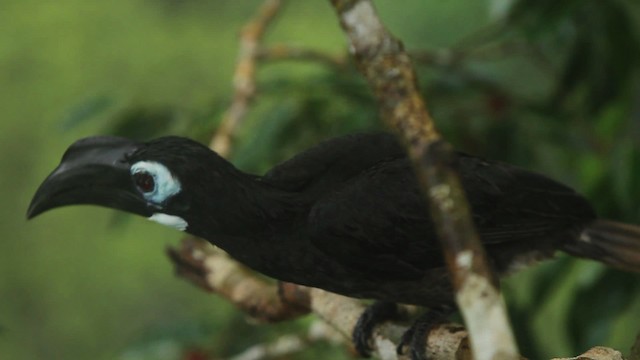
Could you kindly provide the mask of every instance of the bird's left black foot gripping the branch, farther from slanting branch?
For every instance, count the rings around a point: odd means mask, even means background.
[[[398,307],[395,303],[388,301],[376,301],[370,305],[356,323],[353,329],[353,345],[362,357],[371,356],[373,350],[371,337],[376,325],[398,317]]]

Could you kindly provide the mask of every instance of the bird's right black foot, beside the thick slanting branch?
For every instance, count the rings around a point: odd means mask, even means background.
[[[397,348],[398,355],[404,354],[406,347],[409,347],[412,360],[427,360],[427,336],[431,330],[445,323],[453,312],[452,307],[439,306],[420,315],[409,330],[402,335]]]

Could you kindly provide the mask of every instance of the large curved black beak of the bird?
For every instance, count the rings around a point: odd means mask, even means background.
[[[127,155],[139,146],[131,140],[111,136],[76,141],[36,191],[27,218],[76,204],[93,204],[151,216],[129,173]]]

